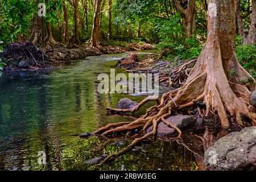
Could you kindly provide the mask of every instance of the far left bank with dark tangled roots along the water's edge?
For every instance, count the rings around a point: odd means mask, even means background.
[[[96,47],[58,47],[47,49],[43,52],[31,42],[10,43],[5,51],[0,53],[0,59],[6,64],[4,71],[16,71],[18,69],[40,69],[51,68],[52,65],[61,60],[78,60],[87,56],[98,56],[102,54],[123,53],[127,51],[139,51],[154,49],[150,44],[128,43],[126,46],[104,46]]]

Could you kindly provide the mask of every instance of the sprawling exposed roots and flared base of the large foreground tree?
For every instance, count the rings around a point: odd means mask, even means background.
[[[166,121],[165,118],[170,116],[173,111],[193,106],[199,101],[204,101],[206,106],[203,115],[208,116],[211,113],[217,113],[223,128],[230,127],[230,122],[243,125],[242,116],[249,118],[252,125],[255,125],[256,114],[253,109],[250,109],[249,94],[255,89],[256,82],[240,66],[235,53],[224,61],[221,57],[220,48],[218,50],[219,52],[216,52],[204,47],[185,84],[179,89],[163,94],[162,98],[147,97],[132,109],[107,108],[109,113],[134,113],[150,100],[156,100],[158,103],[147,109],[146,114],[133,122],[112,123],[94,131],[94,135],[106,136],[112,133],[142,129],[141,133],[143,135],[141,138],[134,139],[129,146],[108,156],[102,163],[129,151],[142,140],[154,137],[160,121],[163,121],[167,127],[174,127],[179,133],[178,138],[180,138],[181,131],[175,125]],[[229,71],[234,70],[234,68],[236,68],[236,77],[230,77]],[[241,80],[248,77],[251,80],[250,84],[241,84]],[[144,134],[149,126],[152,126],[151,131]]]

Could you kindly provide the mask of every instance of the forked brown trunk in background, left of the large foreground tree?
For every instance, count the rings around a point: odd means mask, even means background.
[[[195,17],[195,6],[196,0],[184,1],[188,5],[187,8],[183,8],[180,5],[179,0],[174,0],[175,5],[182,17],[182,23],[185,29],[185,38],[189,38],[192,34],[196,32],[196,17]],[[182,0],[181,0],[182,1]]]

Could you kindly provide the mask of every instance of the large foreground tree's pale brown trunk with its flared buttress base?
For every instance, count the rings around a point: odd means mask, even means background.
[[[208,38],[191,75],[184,86],[192,84],[200,78],[197,84],[203,88],[201,93],[210,110],[217,111],[222,127],[229,127],[226,111],[232,119],[242,125],[241,115],[253,119],[249,113],[250,88],[255,88],[255,80],[238,63],[236,47],[236,14],[233,0],[210,0],[208,5]],[[230,75],[230,71],[236,76]],[[249,77],[252,84],[241,84]],[[197,90],[198,91],[198,90]],[[195,93],[196,94],[196,93]]]

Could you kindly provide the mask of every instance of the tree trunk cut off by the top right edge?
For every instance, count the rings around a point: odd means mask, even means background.
[[[250,30],[243,44],[254,45],[255,41],[256,41],[256,0],[252,0],[252,17],[251,17]]]

